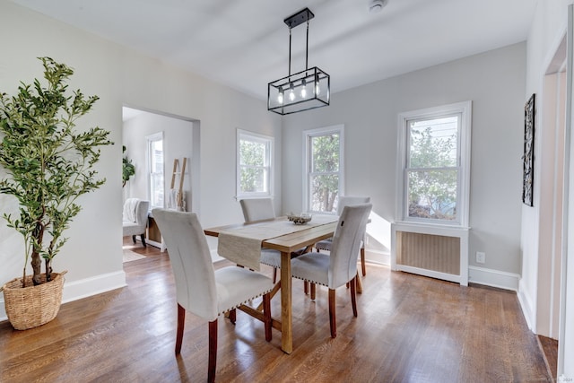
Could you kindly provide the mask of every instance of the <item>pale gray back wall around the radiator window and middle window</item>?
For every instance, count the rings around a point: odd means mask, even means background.
[[[393,222],[398,114],[472,100],[470,282],[516,289],[525,60],[526,43],[520,43],[336,93],[327,108],[285,118],[283,211],[301,209],[301,132],[344,124],[345,194],[371,196],[373,212]],[[390,238],[386,230],[381,237]],[[480,268],[476,251],[486,253]]]

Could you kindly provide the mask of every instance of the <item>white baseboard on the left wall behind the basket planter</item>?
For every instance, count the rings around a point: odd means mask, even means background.
[[[62,292],[62,303],[81,300],[92,295],[100,294],[101,292],[116,290],[126,285],[126,273],[124,273],[123,270],[115,273],[96,275],[79,281],[65,282],[64,292]],[[2,298],[0,299],[0,321],[7,319],[4,298]]]

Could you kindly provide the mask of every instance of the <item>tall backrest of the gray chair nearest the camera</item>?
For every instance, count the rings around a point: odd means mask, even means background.
[[[179,305],[208,321],[217,318],[215,274],[196,213],[153,209],[170,256]]]

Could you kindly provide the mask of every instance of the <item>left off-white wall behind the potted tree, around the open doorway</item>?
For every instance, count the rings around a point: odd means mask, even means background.
[[[276,138],[281,158],[281,123],[265,102],[252,99],[202,77],[143,57],[127,48],[53,21],[10,2],[0,3],[0,90],[13,93],[19,81],[41,78],[36,57],[49,56],[74,67],[70,87],[100,100],[81,128],[98,125],[110,130],[117,144],[105,148],[97,169],[107,178],[99,190],[84,196],[83,211],[67,232],[70,240],[54,261],[56,271],[68,270],[65,300],[117,288],[122,270],[122,106],[158,110],[201,121],[201,222],[204,226],[242,220],[235,195],[236,128]],[[277,161],[280,163],[280,161]],[[276,170],[276,190],[281,167]],[[277,196],[281,199],[280,193]],[[16,205],[0,196],[0,210]],[[0,283],[22,274],[23,244],[19,234],[0,224]],[[0,301],[0,319],[4,304]]]

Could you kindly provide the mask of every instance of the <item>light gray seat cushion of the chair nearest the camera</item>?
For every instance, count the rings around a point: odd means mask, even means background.
[[[217,312],[222,314],[239,307],[240,304],[271,292],[274,283],[271,278],[248,269],[230,266],[215,270],[217,290]]]

